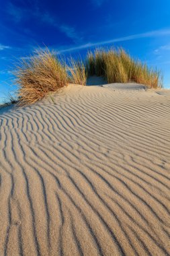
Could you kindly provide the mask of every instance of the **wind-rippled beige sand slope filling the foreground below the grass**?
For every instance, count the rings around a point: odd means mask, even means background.
[[[170,255],[170,94],[69,86],[2,110],[0,255]]]

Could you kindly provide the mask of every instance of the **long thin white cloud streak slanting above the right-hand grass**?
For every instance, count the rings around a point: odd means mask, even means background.
[[[123,42],[123,41],[128,41],[128,40],[135,40],[138,38],[149,38],[149,37],[158,37],[158,36],[166,36],[166,35],[170,35],[170,29],[169,30],[154,30],[154,31],[145,32],[145,33],[141,33],[141,34],[132,34],[130,36],[123,36],[120,38],[113,38],[111,40],[104,40],[104,41],[100,41],[100,42],[88,42],[86,44],[69,47],[67,49],[61,49],[60,51],[58,51],[58,53],[66,53],[69,51],[77,51],[77,50],[87,49],[87,48],[95,47],[95,46],[113,44],[114,42]]]

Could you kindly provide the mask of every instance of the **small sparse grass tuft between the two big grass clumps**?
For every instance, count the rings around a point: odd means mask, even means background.
[[[67,70],[69,71],[69,82],[71,84],[81,84],[82,86],[86,85],[87,73],[85,70],[85,64],[81,59],[75,61],[71,58],[69,60],[69,65],[67,65]]]

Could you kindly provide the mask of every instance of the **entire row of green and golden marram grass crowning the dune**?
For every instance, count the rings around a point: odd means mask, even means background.
[[[103,76],[108,83],[136,82],[150,88],[162,87],[163,82],[160,71],[133,59],[123,49],[89,51],[85,62],[71,58],[69,65],[47,48],[39,49],[34,56],[19,61],[14,75],[20,106],[33,104],[69,83],[85,86],[91,75]]]

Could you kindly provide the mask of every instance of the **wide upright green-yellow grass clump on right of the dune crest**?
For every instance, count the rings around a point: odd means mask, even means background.
[[[108,83],[136,82],[151,88],[162,87],[161,72],[133,59],[124,49],[89,52],[85,67],[88,75],[102,75]]]

